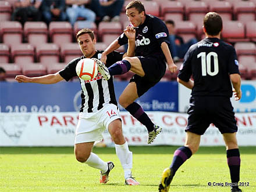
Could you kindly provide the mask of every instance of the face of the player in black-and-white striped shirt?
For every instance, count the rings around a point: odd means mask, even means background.
[[[80,35],[78,38],[78,43],[81,49],[81,52],[83,52],[84,56],[87,58],[91,58],[96,50],[95,50],[95,44],[96,44],[96,39],[91,39],[89,34],[83,34]]]

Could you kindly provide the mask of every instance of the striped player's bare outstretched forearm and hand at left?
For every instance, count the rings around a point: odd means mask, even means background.
[[[59,72],[55,74],[44,75],[41,77],[26,77],[24,75],[16,75],[16,81],[19,83],[35,83],[35,84],[56,84],[61,81],[63,78]]]

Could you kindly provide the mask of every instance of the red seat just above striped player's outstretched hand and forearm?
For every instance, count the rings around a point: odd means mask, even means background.
[[[23,63],[19,66],[22,67],[23,75],[27,77],[38,77],[47,74],[47,68],[41,63]]]

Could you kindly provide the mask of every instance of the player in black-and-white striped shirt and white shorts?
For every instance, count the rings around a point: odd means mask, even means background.
[[[17,75],[15,79],[18,82],[55,84],[63,79],[69,81],[73,77],[77,77],[77,63],[84,58],[101,59],[102,51],[95,50],[96,39],[90,29],[80,30],[77,32],[76,38],[84,56],[73,59],[67,64],[66,68],[58,73],[33,78]],[[123,55],[119,52],[110,53],[106,65],[111,66],[111,64],[121,60]],[[120,121],[118,103],[113,88],[113,78],[105,81],[101,74],[98,74],[90,81],[80,79],[80,84],[82,102],[74,139],[74,154],[77,161],[101,170],[100,183],[108,182],[109,172],[114,167],[113,162],[104,162],[91,152],[94,142],[101,141],[102,132],[108,129],[113,142],[115,142],[116,154],[125,172],[125,184],[138,185],[139,183],[131,176],[133,153],[129,151],[122,133],[122,122]]]

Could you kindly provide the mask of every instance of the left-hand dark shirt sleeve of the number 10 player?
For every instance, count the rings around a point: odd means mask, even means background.
[[[184,56],[184,61],[182,63],[182,66],[180,67],[179,70],[179,74],[177,77],[179,77],[179,79],[182,79],[183,81],[188,82],[191,74],[192,74],[192,67],[191,67],[191,58],[190,58],[190,51],[188,51],[186,53],[186,55]]]

